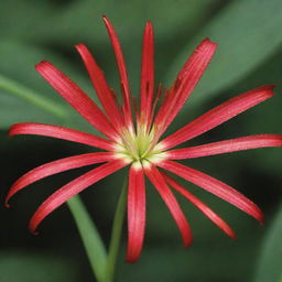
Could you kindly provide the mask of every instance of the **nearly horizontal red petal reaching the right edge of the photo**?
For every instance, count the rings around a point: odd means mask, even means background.
[[[175,149],[166,152],[169,159],[193,159],[214,154],[224,154],[236,151],[265,148],[265,147],[282,147],[282,135],[274,134],[258,134],[249,137],[240,137],[214,143]]]

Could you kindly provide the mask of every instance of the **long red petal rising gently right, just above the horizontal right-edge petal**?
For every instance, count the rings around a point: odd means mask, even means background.
[[[162,141],[165,149],[173,148],[224,123],[247,109],[271,98],[274,85],[267,85],[238,95],[199,116]]]

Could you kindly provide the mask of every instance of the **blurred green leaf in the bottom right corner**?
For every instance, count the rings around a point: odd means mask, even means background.
[[[262,246],[256,282],[282,281],[282,208],[278,212]]]

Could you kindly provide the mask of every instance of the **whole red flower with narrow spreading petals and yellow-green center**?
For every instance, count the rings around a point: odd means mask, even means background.
[[[173,86],[164,90],[163,102],[156,110],[156,104],[162,94],[159,86],[154,95],[154,44],[153,28],[147,23],[143,36],[143,54],[141,68],[140,109],[135,110],[137,121],[133,121],[131,96],[123,55],[117,34],[107,18],[105,24],[116,54],[121,83],[123,102],[120,106],[116,94],[108,86],[104,73],[97,65],[88,48],[76,46],[89,73],[94,88],[98,95],[102,110],[65,74],[48,62],[36,65],[37,72],[47,83],[78,111],[90,124],[106,138],[95,137],[77,130],[41,123],[18,123],[11,127],[9,134],[37,134],[64,139],[77,143],[99,148],[105,152],[86,153],[65,158],[43,164],[20,177],[11,187],[6,203],[11,196],[25,186],[55,173],[67,170],[104,163],[90,170],[74,181],[67,183],[51,195],[35,212],[30,229],[35,231],[39,224],[55,208],[72,196],[88,186],[130,165],[128,186],[128,252],[127,260],[135,261],[141,252],[145,226],[145,184],[144,175],[163,198],[183,237],[184,245],[192,243],[189,225],[172,191],[181,193],[205,216],[213,220],[228,236],[235,238],[232,229],[209,207],[180,185],[164,171],[198,185],[207,192],[227,200],[239,209],[263,220],[259,207],[229,185],[174,160],[193,159],[214,154],[228,153],[263,147],[281,147],[282,137],[275,134],[248,135],[225,141],[218,141],[184,149],[172,148],[198,137],[204,132],[221,124],[238,113],[264,101],[273,96],[273,85],[258,87],[236,96],[188,122],[185,127],[161,140],[161,135],[172,123],[192,90],[197,85],[204,70],[209,64],[216,44],[204,40],[178,73]],[[161,169],[161,170],[160,170]]]

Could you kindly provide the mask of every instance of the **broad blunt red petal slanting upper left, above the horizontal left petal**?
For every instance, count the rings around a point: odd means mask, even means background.
[[[90,124],[109,138],[116,137],[116,131],[105,113],[65,74],[46,61],[36,65],[36,69],[43,78]]]

